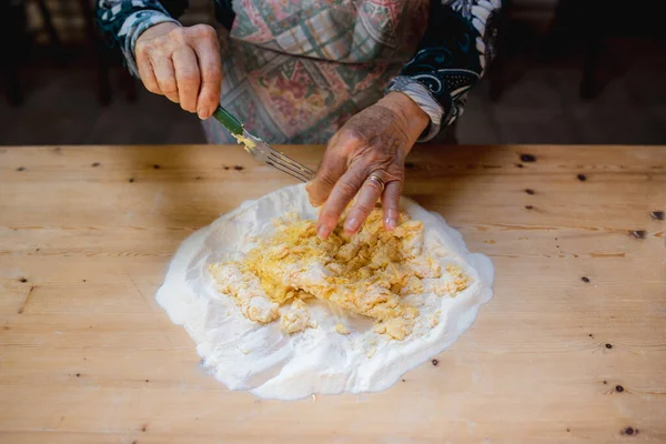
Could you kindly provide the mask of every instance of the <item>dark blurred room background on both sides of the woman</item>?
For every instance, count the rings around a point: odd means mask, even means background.
[[[2,0],[0,144],[204,143],[95,40],[87,0]],[[191,0],[185,24],[212,22]],[[460,143],[666,144],[658,1],[514,0]],[[21,26],[24,11],[26,27]]]

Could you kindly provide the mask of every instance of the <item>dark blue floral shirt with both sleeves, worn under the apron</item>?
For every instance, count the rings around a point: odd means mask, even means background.
[[[212,0],[215,19],[231,29],[232,0]],[[138,74],[134,46],[143,31],[175,18],[188,0],[97,0],[97,22],[111,47]],[[386,87],[412,98],[431,118],[422,141],[434,138],[464,110],[468,91],[478,83],[495,56],[501,0],[432,0],[428,26],[414,57]],[[179,23],[180,24],[180,23]]]

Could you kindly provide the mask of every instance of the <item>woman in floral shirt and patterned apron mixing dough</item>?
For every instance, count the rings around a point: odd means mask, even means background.
[[[183,27],[186,7],[98,0],[97,14],[129,70],[195,112],[211,143],[234,142],[206,120],[218,103],[269,143],[327,142],[307,185],[326,238],[354,198],[346,231],[379,199],[395,226],[405,157],[461,115],[501,0],[214,0],[219,30]]]

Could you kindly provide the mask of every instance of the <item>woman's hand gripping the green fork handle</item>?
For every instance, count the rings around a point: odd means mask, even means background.
[[[134,52],[150,92],[167,95],[200,119],[212,115],[222,85],[220,42],[212,27],[155,24],[139,37]]]

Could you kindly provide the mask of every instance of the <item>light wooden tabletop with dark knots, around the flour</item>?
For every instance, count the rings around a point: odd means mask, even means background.
[[[226,391],[153,300],[185,236],[290,183],[238,147],[0,148],[0,442],[666,442],[666,148],[415,151],[405,193],[495,297],[438,365],[315,402]]]

